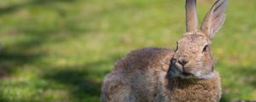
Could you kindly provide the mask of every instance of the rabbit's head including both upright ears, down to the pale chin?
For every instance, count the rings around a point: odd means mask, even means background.
[[[196,1],[186,0],[187,32],[177,41],[171,60],[171,77],[208,79],[213,77],[214,62],[210,45],[212,37],[223,25],[227,0],[218,0],[198,28]]]

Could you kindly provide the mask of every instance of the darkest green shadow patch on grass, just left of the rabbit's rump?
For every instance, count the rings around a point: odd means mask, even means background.
[[[87,79],[88,72],[76,70],[77,68],[67,68],[54,71],[44,76],[51,81],[65,84],[70,87],[74,97],[83,99],[84,96],[95,97],[100,94],[101,82]]]

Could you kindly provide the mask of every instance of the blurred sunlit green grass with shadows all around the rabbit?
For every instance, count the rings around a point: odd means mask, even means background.
[[[200,20],[213,3],[198,0]],[[256,99],[255,5],[230,0],[212,42],[222,102]],[[100,101],[117,59],[136,48],[175,48],[184,21],[184,0],[0,1],[0,101]]]

